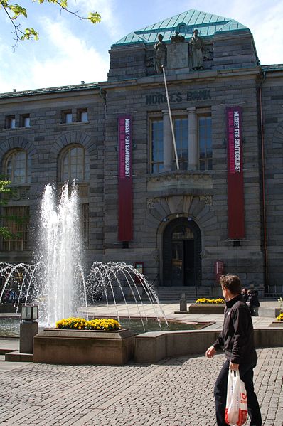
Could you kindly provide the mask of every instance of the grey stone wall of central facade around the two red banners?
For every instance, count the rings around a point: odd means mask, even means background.
[[[209,74],[208,74],[209,73]],[[174,182],[173,173],[166,182],[152,180],[149,173],[149,115],[166,109],[164,99],[146,105],[146,96],[152,90],[164,91],[156,77],[137,79],[129,84],[108,82],[107,90],[107,154],[105,157],[105,259],[144,261],[146,275],[154,279],[162,268],[162,230],[164,218],[185,215],[196,220],[202,233],[202,285],[215,283],[214,262],[223,260],[225,272],[240,275],[244,284],[260,286],[263,291],[263,259],[261,250],[259,123],[257,121],[257,75],[255,70],[237,74],[230,70],[207,72],[207,80],[193,75],[178,78],[169,75],[169,94],[178,92],[179,102],[171,104],[172,111],[188,107],[210,108],[213,125],[213,171],[196,172],[196,176],[211,179],[211,187],[196,185],[189,172],[183,171],[188,181]],[[203,74],[204,76],[204,74]],[[147,84],[146,84],[147,82]],[[210,90],[208,99],[188,100],[188,90]],[[119,99],[119,102],[117,102]],[[156,98],[157,99],[157,98]],[[176,97],[174,98],[177,99]],[[117,106],[119,107],[117,108]],[[228,240],[227,213],[227,142],[225,133],[225,107],[241,105],[243,111],[244,185],[246,237],[240,247]],[[117,117],[127,112],[133,117],[133,191],[134,191],[134,243],[122,249],[117,243]],[[210,176],[210,177],[209,177]],[[154,178],[155,179],[155,178]],[[195,178],[193,178],[195,179]],[[206,179],[206,178],[205,178]],[[203,181],[204,182],[204,181]],[[165,184],[166,183],[166,184]],[[207,203],[204,197],[208,197]],[[190,203],[185,198],[192,197]],[[201,198],[203,197],[203,198]],[[181,204],[180,204],[180,199]],[[169,202],[170,201],[170,202]],[[186,206],[186,208],[185,208]],[[178,216],[177,216],[178,217]],[[111,224],[111,225],[110,225]]]

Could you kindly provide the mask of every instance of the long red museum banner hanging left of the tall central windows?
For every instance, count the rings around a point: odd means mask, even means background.
[[[118,198],[119,222],[118,240],[132,241],[132,116],[118,118]]]

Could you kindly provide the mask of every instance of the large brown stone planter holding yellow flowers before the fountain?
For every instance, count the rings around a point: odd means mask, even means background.
[[[33,362],[123,365],[134,356],[134,333],[44,329],[34,337]]]

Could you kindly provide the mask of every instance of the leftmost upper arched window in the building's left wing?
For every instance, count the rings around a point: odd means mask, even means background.
[[[31,182],[31,159],[26,151],[17,149],[6,159],[5,176],[12,184]]]

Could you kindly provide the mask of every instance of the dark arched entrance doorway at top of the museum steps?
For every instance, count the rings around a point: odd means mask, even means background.
[[[163,285],[195,286],[201,280],[201,230],[193,220],[176,218],[163,235]]]

